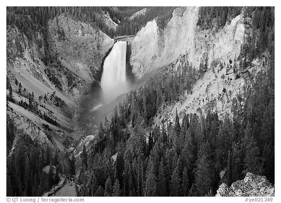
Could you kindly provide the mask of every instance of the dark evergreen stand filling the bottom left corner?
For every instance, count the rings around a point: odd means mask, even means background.
[[[17,131],[8,115],[6,137],[7,196],[41,196],[45,190],[59,182],[58,154],[52,153],[49,148],[43,149],[28,135]],[[15,137],[20,144],[11,149]],[[52,165],[48,174],[42,170],[46,165]]]

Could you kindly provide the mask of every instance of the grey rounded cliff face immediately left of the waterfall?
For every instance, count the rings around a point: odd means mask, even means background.
[[[91,82],[114,40],[92,26],[63,15],[49,22],[50,45],[75,75]],[[60,34],[63,33],[63,34]]]

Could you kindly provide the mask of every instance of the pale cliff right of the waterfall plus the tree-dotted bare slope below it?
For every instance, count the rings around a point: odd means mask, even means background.
[[[202,30],[197,26],[198,12],[199,7],[177,8],[163,31],[153,20],[130,41],[130,63],[132,72],[138,78],[163,66],[171,71],[179,71],[189,63],[199,69],[201,61],[208,59],[208,70],[194,84],[192,91],[186,93],[181,102],[168,106],[167,112],[160,112],[155,123],[166,113],[174,119],[176,109],[180,118],[183,112],[198,113],[199,107],[204,111],[210,106],[216,106],[219,115],[223,115],[230,111],[231,101],[243,85],[242,77],[236,79],[232,70],[226,70],[230,59],[237,60],[244,42],[246,34],[242,15],[226,22],[221,29]],[[220,63],[224,64],[223,68],[219,67]],[[258,61],[255,68],[260,64],[261,61]]]

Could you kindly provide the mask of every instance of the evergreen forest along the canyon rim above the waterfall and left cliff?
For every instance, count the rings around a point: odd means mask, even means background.
[[[156,19],[159,27],[163,29],[168,20],[171,19],[172,12],[176,7],[148,7],[145,15],[140,15],[133,20],[129,19],[131,15],[142,8],[144,7],[7,7],[7,25],[16,25],[31,40],[35,32],[45,32],[45,37],[47,37],[48,20],[61,14],[68,14],[74,20],[100,28],[101,31],[113,38],[122,35],[135,35],[141,27],[153,19]],[[100,17],[105,13],[119,24],[116,30],[108,27]],[[48,44],[45,45],[48,46]]]

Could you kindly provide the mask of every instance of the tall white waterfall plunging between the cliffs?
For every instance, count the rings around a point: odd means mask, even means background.
[[[104,60],[100,82],[105,101],[111,101],[128,91],[126,51],[127,42],[117,41]]]

